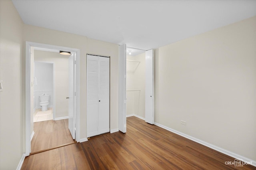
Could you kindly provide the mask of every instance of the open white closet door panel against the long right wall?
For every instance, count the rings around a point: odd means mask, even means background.
[[[146,51],[145,121],[154,124],[154,51]]]

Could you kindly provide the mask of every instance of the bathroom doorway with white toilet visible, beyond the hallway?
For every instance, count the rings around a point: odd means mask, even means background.
[[[34,110],[33,122],[53,120],[54,106],[54,74],[56,67],[51,62],[54,52],[41,51],[34,48]],[[53,109],[54,107],[54,109]]]

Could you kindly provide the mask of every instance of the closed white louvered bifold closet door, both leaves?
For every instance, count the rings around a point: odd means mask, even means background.
[[[109,132],[110,58],[87,55],[87,137]]]

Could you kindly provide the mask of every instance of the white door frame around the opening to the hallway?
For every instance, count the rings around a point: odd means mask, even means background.
[[[25,156],[31,152],[31,129],[30,129],[30,47],[44,47],[70,51],[76,53],[76,141],[80,142],[80,49],[49,45],[43,43],[26,42],[25,62]]]

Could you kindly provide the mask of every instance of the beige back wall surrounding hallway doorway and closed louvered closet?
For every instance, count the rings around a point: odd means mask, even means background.
[[[24,24],[25,41],[80,49],[80,138],[86,138],[86,53],[110,56],[110,129],[118,128],[118,45]],[[24,76],[25,77],[25,76]]]

